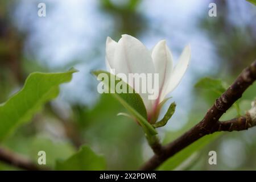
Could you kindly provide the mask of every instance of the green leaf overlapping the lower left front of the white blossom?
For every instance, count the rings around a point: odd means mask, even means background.
[[[133,90],[133,93],[117,93],[114,92],[113,96],[117,98],[119,102],[132,114],[134,117],[138,120],[139,124],[142,126],[144,133],[147,135],[156,135],[157,132],[150,125],[150,123],[147,121],[147,111],[146,107],[143,104],[141,96],[139,96],[138,93],[135,93],[135,90],[131,88],[128,84],[123,82],[120,78],[118,78],[115,75],[110,74],[106,71],[93,71],[92,72],[96,77],[100,75],[101,73],[104,73],[108,76],[108,80],[102,78],[102,82],[108,88],[109,91],[115,91],[115,86],[119,83],[124,85],[127,90]],[[114,85],[110,84],[111,81],[109,81],[111,78],[114,78]],[[110,92],[109,92],[110,93]]]

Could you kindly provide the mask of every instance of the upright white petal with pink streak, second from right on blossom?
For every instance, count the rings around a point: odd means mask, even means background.
[[[159,94],[158,102],[164,99],[167,85],[172,73],[172,53],[166,45],[166,40],[161,40],[152,50],[152,59],[155,65],[155,73],[159,73]]]

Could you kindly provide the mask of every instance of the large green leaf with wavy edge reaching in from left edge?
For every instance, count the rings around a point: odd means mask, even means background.
[[[31,117],[42,106],[57,97],[59,85],[71,81],[71,69],[64,73],[31,73],[24,87],[8,101],[0,105],[0,141]]]

